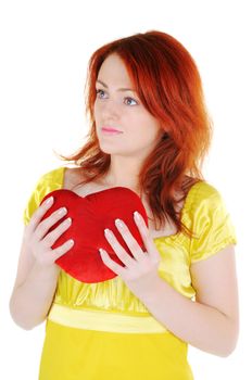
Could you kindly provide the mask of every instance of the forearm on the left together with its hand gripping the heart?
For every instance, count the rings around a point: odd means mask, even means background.
[[[41,221],[50,205],[43,202],[24,229],[17,275],[10,300],[13,320],[26,330],[45,320],[53,300],[60,271],[54,262],[73,245],[71,240],[67,240],[56,249],[51,249],[71,223],[63,220],[48,232],[62,218],[62,214],[56,210]]]

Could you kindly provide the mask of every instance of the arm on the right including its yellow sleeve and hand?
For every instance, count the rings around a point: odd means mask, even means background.
[[[116,226],[133,257],[108,230],[106,239],[125,266],[112,261],[104,250],[101,257],[167,330],[202,351],[228,356],[235,350],[239,330],[235,250],[231,243],[236,239],[219,194],[209,186],[204,189],[212,195],[201,194],[203,201],[199,203],[193,226],[198,238],[192,239],[190,244],[196,302],[185,297],[159,276],[161,257],[140,214],[138,217],[136,215],[135,221],[147,252],[142,251],[121,220]],[[222,250],[225,241],[230,241],[229,246]],[[222,251],[216,253],[216,246]],[[202,259],[210,253],[209,258]]]

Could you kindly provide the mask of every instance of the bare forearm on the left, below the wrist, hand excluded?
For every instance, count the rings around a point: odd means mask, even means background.
[[[13,320],[29,330],[47,317],[55,292],[59,267],[41,268],[35,264],[25,282],[13,291],[10,312]]]

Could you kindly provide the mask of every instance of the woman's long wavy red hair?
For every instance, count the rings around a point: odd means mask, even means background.
[[[111,156],[99,147],[93,105],[99,69],[112,53],[123,60],[140,101],[164,130],[139,173],[139,188],[147,195],[155,228],[156,220],[158,229],[167,220],[175,225],[177,233],[191,237],[177,205],[196,182],[204,180],[202,164],[210,148],[212,122],[197,65],[174,37],[150,30],[114,40],[93,52],[85,84],[85,114],[90,125],[87,142],[74,154],[60,157],[84,168],[84,178],[77,186],[108,173]]]

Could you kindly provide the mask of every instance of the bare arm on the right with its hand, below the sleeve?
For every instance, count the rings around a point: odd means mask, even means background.
[[[197,300],[192,302],[159,276],[159,252],[143,219],[137,223],[147,253],[142,252],[124,224],[118,229],[134,258],[111,232],[106,233],[106,239],[125,267],[112,261],[102,250],[104,264],[122,277],[167,330],[202,351],[228,356],[235,350],[239,329],[234,245],[191,265],[192,284],[197,292]]]

